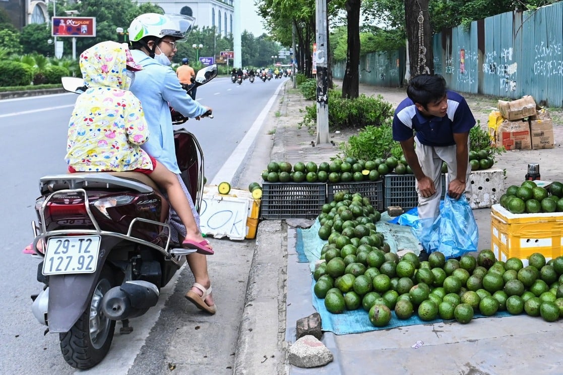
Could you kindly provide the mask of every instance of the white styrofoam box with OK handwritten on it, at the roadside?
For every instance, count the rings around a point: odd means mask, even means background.
[[[241,189],[220,194],[217,186],[205,186],[199,214],[202,233],[215,238],[227,236],[230,240],[244,240],[252,201],[250,193]]]

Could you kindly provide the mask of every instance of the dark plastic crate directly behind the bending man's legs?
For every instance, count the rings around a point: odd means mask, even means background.
[[[441,174],[442,195],[446,196],[446,175]],[[383,209],[401,206],[405,211],[418,205],[418,194],[414,187],[414,174],[386,174],[383,177]]]

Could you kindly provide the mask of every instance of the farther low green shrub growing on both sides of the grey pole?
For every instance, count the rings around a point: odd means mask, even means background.
[[[303,121],[300,126],[312,129],[316,124],[316,103],[305,107]],[[328,91],[328,125],[330,130],[346,128],[365,128],[378,126],[393,114],[391,103],[383,100],[381,95],[368,97],[361,94],[355,99],[342,98],[336,90]]]

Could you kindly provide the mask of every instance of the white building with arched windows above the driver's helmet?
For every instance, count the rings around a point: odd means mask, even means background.
[[[215,26],[217,34],[226,37],[233,33],[235,1],[242,0],[137,0],[137,3],[153,3],[162,8],[164,13],[193,16],[200,29]]]

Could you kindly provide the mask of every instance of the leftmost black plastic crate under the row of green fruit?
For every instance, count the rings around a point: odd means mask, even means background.
[[[262,219],[314,219],[327,200],[324,182],[263,182]]]

